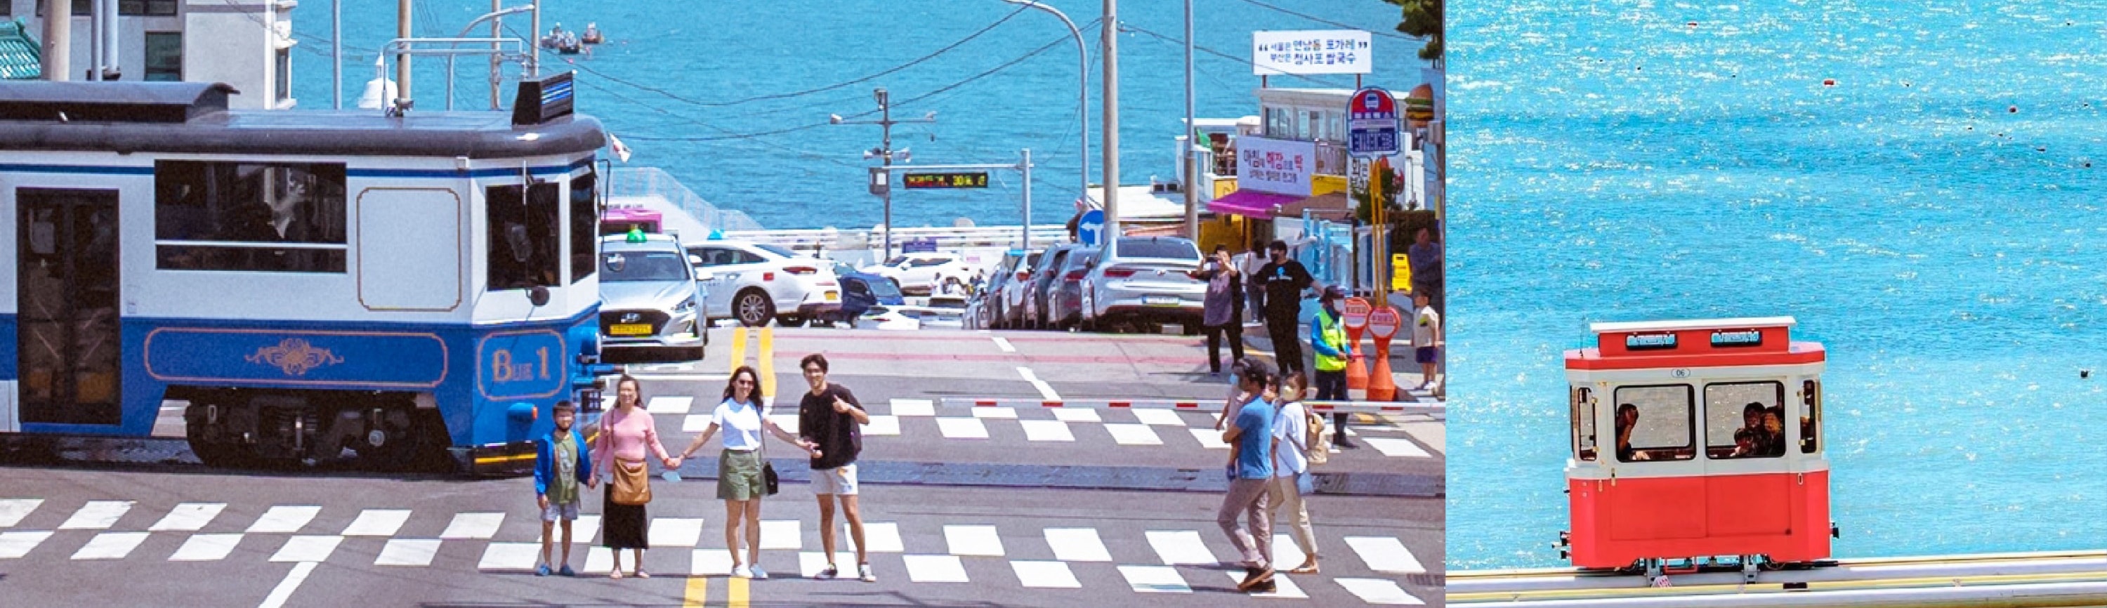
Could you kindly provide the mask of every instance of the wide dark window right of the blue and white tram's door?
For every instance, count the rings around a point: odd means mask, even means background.
[[[160,269],[343,271],[343,164],[154,162]]]

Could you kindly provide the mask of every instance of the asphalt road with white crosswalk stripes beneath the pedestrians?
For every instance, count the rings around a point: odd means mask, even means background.
[[[704,362],[636,370],[672,450],[693,435],[689,414],[708,412],[731,368],[735,330],[718,332]],[[879,583],[803,576],[824,558],[805,467],[788,450],[773,454],[784,490],[763,507],[767,581],[723,576],[725,513],[708,459],[683,467],[685,482],[655,488],[655,547],[645,562],[655,576],[609,581],[607,551],[584,547],[596,539],[594,522],[577,528],[582,547],[571,558],[586,576],[529,572],[539,534],[531,480],[215,471],[70,452],[65,463],[0,467],[0,604],[1441,604],[1439,417],[1359,421],[1353,440],[1361,448],[1334,454],[1319,469],[1330,482],[1311,496],[1323,572],[1283,576],[1294,583],[1283,585],[1285,597],[1243,597],[1218,566],[1235,560],[1214,524],[1220,492],[1209,486],[1226,450],[1193,431],[1212,431],[1209,414],[1087,410],[1098,417],[1083,419],[1075,410],[1058,419],[1043,408],[936,404],[1043,398],[1032,379],[1068,400],[1220,400],[1224,385],[1205,374],[1197,339],[780,330],[750,339],[742,353],[771,362],[784,417],[803,389],[796,358],[809,351],[826,351],[834,381],[881,425],[898,427],[866,435],[862,454]],[[1066,440],[1051,431],[1056,423]],[[600,511],[596,492],[584,511]],[[849,549],[847,534],[839,536],[839,549]],[[1287,547],[1277,560],[1296,562]]]

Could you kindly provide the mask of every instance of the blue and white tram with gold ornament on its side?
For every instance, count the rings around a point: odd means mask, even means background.
[[[209,465],[533,465],[598,410],[598,120],[240,112],[225,84],[0,86],[0,433]],[[582,419],[582,427],[590,417]]]

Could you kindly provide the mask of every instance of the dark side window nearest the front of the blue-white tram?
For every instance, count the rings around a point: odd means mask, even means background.
[[[525,189],[525,200],[523,200]],[[558,286],[563,244],[556,185],[493,185],[485,189],[489,212],[489,290]]]

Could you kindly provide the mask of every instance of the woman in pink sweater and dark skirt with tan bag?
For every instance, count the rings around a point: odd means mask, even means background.
[[[594,480],[619,473],[615,461],[643,465],[647,450],[666,469],[681,467],[681,459],[668,454],[666,446],[657,440],[651,412],[643,408],[643,387],[630,374],[622,374],[615,381],[615,408],[600,414],[600,435],[592,442],[592,454],[607,454],[605,459],[594,459]],[[615,503],[615,484],[607,484],[607,496],[600,505],[600,536],[615,553],[615,570],[607,574],[609,579],[622,579],[622,549],[630,549],[636,555],[636,568],[630,570],[632,576],[651,576],[645,572],[645,549],[651,547],[651,539],[645,534],[649,522],[645,505]]]

